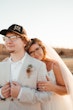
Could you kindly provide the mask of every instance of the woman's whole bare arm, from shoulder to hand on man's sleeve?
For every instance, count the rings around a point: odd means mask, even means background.
[[[65,87],[65,83],[62,77],[62,73],[59,67],[58,62],[56,62],[55,60],[49,60],[48,63],[46,64],[47,69],[50,71],[51,69],[53,69],[55,78],[56,78],[56,84],[54,84],[54,82],[49,81],[48,77],[47,77],[47,82],[38,82],[38,88],[40,91],[52,91],[55,92],[59,95],[64,95],[67,93],[66,87]]]

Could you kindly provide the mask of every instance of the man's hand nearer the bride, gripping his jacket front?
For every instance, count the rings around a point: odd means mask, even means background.
[[[11,83],[11,97],[17,98],[19,92],[20,92],[21,86],[19,83],[13,81]]]

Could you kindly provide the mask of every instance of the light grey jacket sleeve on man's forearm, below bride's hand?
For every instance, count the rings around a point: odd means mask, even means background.
[[[22,87],[18,99],[20,102],[24,103],[44,103],[45,101],[50,100],[52,93],[51,92],[40,92],[35,89],[28,87]]]

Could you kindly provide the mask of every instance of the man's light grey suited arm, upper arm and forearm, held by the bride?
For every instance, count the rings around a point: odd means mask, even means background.
[[[38,81],[47,81],[46,75],[47,75],[46,65],[42,63],[42,65],[40,65],[38,68]],[[43,103],[47,100],[50,100],[51,95],[52,95],[51,92],[40,92],[29,87],[22,87],[18,98],[21,102]]]

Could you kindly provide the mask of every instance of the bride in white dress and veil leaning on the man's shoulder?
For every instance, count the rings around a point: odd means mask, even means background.
[[[72,110],[72,101],[70,99],[70,95],[67,95],[67,92],[71,92],[71,90],[68,90],[71,89],[71,87],[69,88],[68,77],[64,78],[67,72],[65,69],[67,68],[57,53],[54,52],[53,49],[49,49],[49,54],[47,54],[42,41],[37,38],[31,39],[28,42],[26,51],[32,57],[37,58],[46,64],[48,76],[51,79],[50,81],[47,77],[47,82],[38,82],[38,89],[40,91],[53,92],[51,100],[42,104],[42,110]],[[54,59],[58,60],[56,61]],[[70,77],[72,80],[71,75]]]

